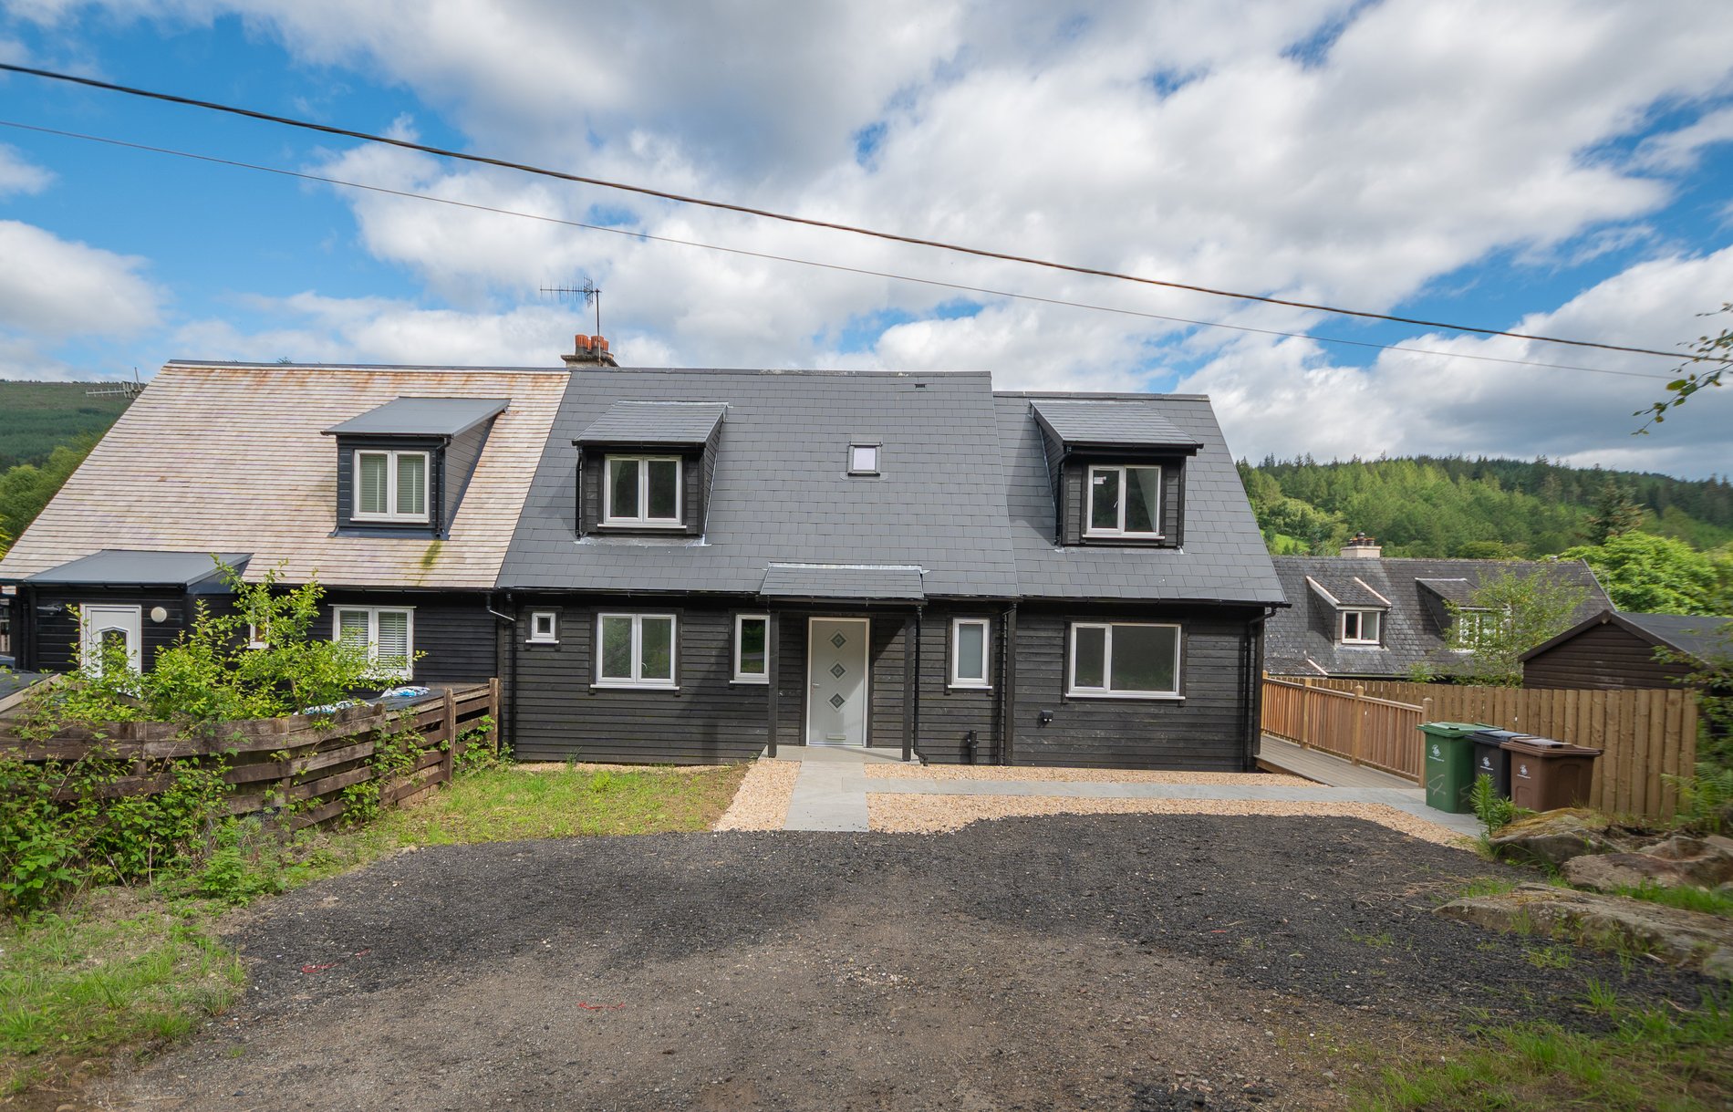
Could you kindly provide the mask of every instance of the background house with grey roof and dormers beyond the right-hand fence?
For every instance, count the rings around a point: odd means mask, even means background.
[[[1293,606],[1267,627],[1265,669],[1272,676],[1449,674],[1473,650],[1478,624],[1492,620],[1471,610],[1477,587],[1506,573],[1579,587],[1577,618],[1610,606],[1580,559],[1386,558],[1364,533],[1341,556],[1277,556],[1275,573]]]

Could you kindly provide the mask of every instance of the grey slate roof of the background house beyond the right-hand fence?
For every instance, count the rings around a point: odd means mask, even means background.
[[[1608,608],[1606,592],[1580,559],[1399,559],[1366,556],[1275,556],[1291,610],[1277,611],[1263,627],[1263,667],[1274,676],[1362,676],[1402,679],[1414,665],[1449,670],[1461,660],[1449,644],[1449,611],[1433,587],[1445,591],[1463,580],[1471,592],[1480,582],[1515,572],[1553,575],[1584,589],[1577,618]],[[1362,580],[1390,599],[1383,617],[1383,644],[1338,644],[1336,608],[1308,589],[1321,582]],[[1426,584],[1431,584],[1428,587]],[[1468,594],[1464,592],[1466,599]],[[1345,603],[1352,608],[1352,603]]]

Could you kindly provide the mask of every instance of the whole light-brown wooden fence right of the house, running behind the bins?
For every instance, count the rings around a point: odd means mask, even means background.
[[[1308,686],[1310,684],[1310,686]],[[1570,745],[1603,750],[1594,762],[1594,781],[1589,786],[1589,805],[1612,814],[1629,814],[1645,819],[1672,818],[1678,807],[1678,788],[1665,776],[1688,776],[1697,764],[1697,700],[1678,688],[1653,691],[1541,691],[1525,688],[1468,688],[1456,684],[1411,684],[1397,681],[1315,679],[1300,684],[1265,679],[1265,731],[1300,741],[1312,748],[1350,757],[1348,743],[1340,740],[1322,745],[1314,733],[1301,740],[1291,733],[1296,722],[1324,727],[1331,712],[1308,712],[1282,707],[1284,719],[1270,715],[1270,689],[1291,691],[1301,688],[1317,703],[1360,701],[1402,705],[1418,710],[1428,722],[1485,722],[1527,734],[1556,738]],[[1307,696],[1279,695],[1277,700],[1305,703]],[[1334,712],[1338,719],[1343,712]],[[1352,715],[1350,715],[1352,717]],[[1404,757],[1390,764],[1374,764],[1385,771],[1418,779],[1421,747],[1419,734],[1386,719],[1366,717],[1364,727],[1379,722],[1379,729],[1393,729]],[[1418,724],[1418,721],[1416,721]],[[1272,729],[1274,726],[1274,729]],[[1362,727],[1362,729],[1364,729]],[[1338,727],[1340,729],[1340,727]],[[1366,745],[1366,743],[1362,743]],[[1352,759],[1352,757],[1350,757]],[[1407,769],[1412,767],[1412,773]]]

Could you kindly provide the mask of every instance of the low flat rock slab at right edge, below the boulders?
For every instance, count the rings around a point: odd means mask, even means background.
[[[1473,895],[1438,915],[1492,930],[1527,930],[1596,949],[1634,949],[1671,965],[1733,979],[1733,920],[1626,895],[1525,883]]]

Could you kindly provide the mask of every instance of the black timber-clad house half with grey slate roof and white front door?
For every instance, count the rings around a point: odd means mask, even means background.
[[[501,572],[522,757],[1251,767],[1282,604],[1204,398],[579,369]]]

